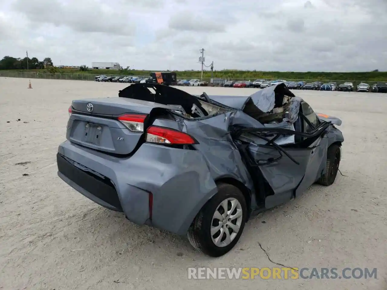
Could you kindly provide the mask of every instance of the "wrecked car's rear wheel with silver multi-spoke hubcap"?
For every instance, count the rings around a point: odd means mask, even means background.
[[[223,256],[238,242],[247,218],[245,198],[237,187],[221,183],[187,232],[190,244],[211,257]]]

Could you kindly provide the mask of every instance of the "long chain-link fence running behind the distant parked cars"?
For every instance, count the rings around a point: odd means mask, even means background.
[[[97,76],[101,74],[95,74],[95,73],[41,73],[41,72],[12,72],[12,71],[0,71],[0,77],[18,77],[18,78],[46,78],[46,79],[52,79],[52,80],[95,80]],[[108,77],[125,77],[126,75],[119,75],[119,74],[107,74]],[[136,77],[148,77],[147,75],[136,75]],[[182,78],[178,77],[178,81],[185,79],[200,79],[200,77],[191,77],[191,78]],[[233,81],[243,81],[243,80],[250,80],[254,81],[255,78],[224,78],[225,81],[227,80],[233,80]],[[274,78],[266,79],[268,81],[276,80]],[[203,81],[206,81],[210,84],[211,78],[203,78]],[[312,83],[312,82],[322,82],[323,84],[331,84],[336,83],[337,85],[343,84],[345,82],[351,82],[353,83],[354,87],[356,87],[358,84],[364,82],[369,85],[373,85],[375,82],[371,81],[360,81],[360,80],[302,80],[302,79],[288,79],[288,82],[300,82],[303,81],[304,83]]]

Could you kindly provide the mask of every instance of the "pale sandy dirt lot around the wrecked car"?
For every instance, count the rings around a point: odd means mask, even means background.
[[[28,79],[0,78],[0,289],[387,289],[386,94],[296,91],[315,111],[343,120],[346,176],[252,218],[235,249],[212,259],[185,237],[134,225],[57,177],[72,99],[113,97],[125,84],[31,81],[27,89]],[[192,266],[275,267],[267,255],[299,268],[376,267],[377,279],[187,279]]]

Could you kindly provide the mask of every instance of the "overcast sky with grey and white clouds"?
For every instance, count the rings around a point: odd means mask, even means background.
[[[0,0],[0,58],[135,69],[387,70],[387,0]]]

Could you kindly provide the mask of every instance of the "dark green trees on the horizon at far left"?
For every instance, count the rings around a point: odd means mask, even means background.
[[[46,57],[43,61],[39,61],[36,57],[15,58],[7,55],[0,60],[0,70],[26,70],[27,63],[28,69],[31,70],[39,70],[53,66],[52,60],[49,57]]]

